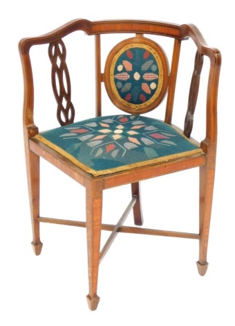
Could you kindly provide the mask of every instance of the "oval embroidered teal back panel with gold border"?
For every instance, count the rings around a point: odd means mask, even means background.
[[[117,44],[109,53],[104,84],[118,108],[141,114],[156,108],[169,83],[169,65],[162,48],[137,35]]]

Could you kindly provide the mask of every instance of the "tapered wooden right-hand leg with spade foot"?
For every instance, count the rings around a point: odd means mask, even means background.
[[[207,247],[209,239],[209,225],[212,213],[212,199],[214,189],[215,169],[200,166],[200,241],[199,260],[197,261],[198,273],[205,275],[207,272]]]

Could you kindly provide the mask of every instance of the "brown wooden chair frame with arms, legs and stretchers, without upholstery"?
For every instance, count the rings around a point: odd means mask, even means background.
[[[185,118],[185,136],[190,137],[193,128],[194,110],[198,98],[198,89],[200,82],[200,71],[203,67],[203,56],[209,58],[209,78],[207,84],[207,103],[206,103],[206,137],[200,143],[202,153],[180,157],[174,160],[161,162],[158,164],[149,164],[148,166],[120,171],[107,175],[94,177],[75,166],[70,160],[66,159],[45,144],[41,144],[36,139],[32,139],[38,134],[39,129],[34,122],[34,84],[32,76],[32,67],[30,61],[30,49],[38,44],[57,44],[66,35],[74,31],[84,31],[87,35],[95,35],[96,51],[96,116],[102,115],[102,97],[101,84],[104,81],[104,74],[101,71],[101,43],[102,34],[109,33],[135,33],[136,35],[163,35],[174,39],[173,58],[169,74],[169,85],[167,94],[167,108],[164,121],[171,124],[173,112],[173,100],[176,88],[176,76],[178,71],[178,62],[180,57],[180,44],[182,40],[189,37],[196,44],[196,60],[191,87],[189,91],[189,105]],[[209,224],[212,212],[212,196],[214,189],[214,176],[216,166],[216,140],[217,140],[217,96],[218,79],[220,73],[220,52],[217,49],[209,47],[205,42],[198,28],[193,24],[168,24],[162,22],[147,22],[137,20],[113,20],[89,22],[86,19],[75,19],[55,31],[39,37],[24,38],[19,42],[19,52],[23,67],[24,81],[24,102],[23,102],[23,132],[25,139],[26,162],[28,173],[28,189],[30,196],[30,212],[32,216],[32,247],[35,254],[41,253],[42,243],[39,237],[40,223],[58,223],[64,225],[75,225],[86,227],[87,246],[88,246],[88,278],[89,293],[87,295],[88,306],[91,310],[97,308],[100,300],[97,295],[97,278],[100,260],[109,249],[117,232],[154,234],[167,237],[182,237],[199,240],[199,259],[197,261],[198,272],[205,275],[207,271],[207,245],[209,238]],[[71,98],[70,79],[66,72],[68,94],[67,100]],[[58,72],[57,74],[62,74]],[[55,80],[54,92],[55,92]],[[55,92],[55,95],[56,92]],[[63,95],[63,94],[62,94]],[[64,95],[63,95],[64,96]],[[61,112],[66,117],[64,124],[73,122],[74,109],[72,105],[64,109],[59,101],[63,96],[57,96],[59,119]],[[69,102],[69,101],[68,101]],[[72,112],[72,113],[71,113]],[[57,218],[45,218],[39,214],[39,158],[56,166],[58,169],[69,175],[86,189],[86,222],[62,220]],[[191,234],[185,232],[171,232],[163,230],[150,230],[146,228],[129,227],[122,225],[124,220],[133,209],[135,225],[142,225],[142,206],[140,201],[139,182],[149,178],[155,178],[159,175],[165,175],[176,171],[199,167],[200,169],[200,194],[199,194],[199,232]],[[107,225],[102,223],[102,194],[104,189],[110,189],[120,185],[131,184],[132,198],[126,211],[120,218],[117,225]],[[101,230],[111,231],[111,237],[100,252]]]

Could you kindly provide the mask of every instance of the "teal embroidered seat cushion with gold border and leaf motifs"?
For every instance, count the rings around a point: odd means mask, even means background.
[[[95,176],[201,152],[167,123],[128,114],[79,121],[35,138]]]

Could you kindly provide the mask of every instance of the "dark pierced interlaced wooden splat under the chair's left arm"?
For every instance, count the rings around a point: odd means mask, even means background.
[[[75,109],[71,102],[71,80],[66,65],[66,47],[62,40],[50,43],[48,54],[52,64],[51,80],[57,101],[57,120],[61,126],[72,123]]]

